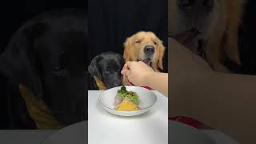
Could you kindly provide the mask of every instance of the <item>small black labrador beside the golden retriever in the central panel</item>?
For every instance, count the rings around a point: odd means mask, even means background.
[[[88,66],[90,73],[90,89],[98,90],[94,76],[103,82],[107,89],[122,86],[122,66],[124,59],[121,54],[104,52],[93,58]]]

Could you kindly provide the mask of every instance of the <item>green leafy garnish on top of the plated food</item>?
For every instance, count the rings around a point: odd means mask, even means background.
[[[122,99],[129,98],[132,102],[134,102],[136,105],[139,104],[139,98],[138,94],[136,94],[133,91],[127,91],[126,86],[122,86],[121,90],[118,90],[118,94]]]

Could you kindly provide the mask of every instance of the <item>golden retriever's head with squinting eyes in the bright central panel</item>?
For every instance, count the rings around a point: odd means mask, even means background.
[[[162,41],[153,33],[140,31],[126,39],[123,57],[125,61],[142,61],[155,71],[162,68],[162,58],[165,47]]]

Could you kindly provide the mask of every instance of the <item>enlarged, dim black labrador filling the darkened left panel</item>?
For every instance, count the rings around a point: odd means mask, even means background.
[[[9,78],[10,129],[37,129],[19,84],[49,106],[62,126],[87,119],[86,10],[51,10],[26,22],[0,55]]]

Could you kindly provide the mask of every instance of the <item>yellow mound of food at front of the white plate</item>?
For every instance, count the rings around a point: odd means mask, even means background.
[[[125,98],[118,106],[115,107],[115,110],[120,111],[135,111],[141,110],[139,106],[137,106],[134,102],[130,99]]]

